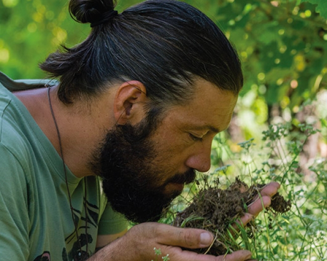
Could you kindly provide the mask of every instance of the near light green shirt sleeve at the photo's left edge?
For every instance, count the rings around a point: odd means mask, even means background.
[[[2,145],[0,176],[1,260],[27,260],[29,215],[26,177],[18,160]]]

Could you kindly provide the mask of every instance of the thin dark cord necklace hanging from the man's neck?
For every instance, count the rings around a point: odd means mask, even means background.
[[[66,182],[67,194],[68,194],[68,199],[69,199],[70,212],[71,212],[72,221],[74,223],[77,242],[79,244],[79,249],[80,249],[80,252],[78,253],[78,257],[79,258],[81,257],[82,259],[80,259],[80,260],[83,260],[84,258],[88,257],[88,253],[89,253],[89,247],[88,247],[88,243],[89,243],[88,242],[88,213],[87,213],[87,184],[86,184],[86,179],[84,178],[84,209],[85,209],[85,234],[86,234],[86,254],[85,254],[85,257],[84,257],[84,256],[82,256],[83,251],[82,251],[82,248],[81,248],[80,239],[78,237],[76,220],[74,219],[74,212],[73,212],[73,207],[72,207],[72,204],[71,204],[71,196],[70,196],[70,191],[69,191],[69,187],[68,187],[66,164],[65,164],[65,160],[64,160],[63,154],[62,154],[62,144],[61,144],[60,132],[59,132],[58,124],[57,124],[56,118],[54,116],[53,108],[52,108],[52,103],[51,103],[51,98],[50,98],[50,88],[51,88],[51,86],[48,86],[48,90],[47,90],[48,101],[49,101],[49,106],[50,106],[52,119],[53,119],[54,125],[56,127],[56,132],[57,132],[57,137],[58,137],[58,142],[59,142],[60,157],[62,159],[63,172],[65,174],[65,182]]]

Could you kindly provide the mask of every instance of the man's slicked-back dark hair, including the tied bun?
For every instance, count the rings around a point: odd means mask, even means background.
[[[70,0],[71,16],[97,23],[115,8],[112,0]],[[82,43],[57,51],[40,65],[59,77],[65,103],[91,96],[117,81],[138,80],[151,104],[192,97],[197,77],[238,94],[243,84],[236,51],[219,28],[194,7],[177,0],[149,0],[92,28]]]

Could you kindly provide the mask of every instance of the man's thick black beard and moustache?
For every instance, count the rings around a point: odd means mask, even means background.
[[[91,162],[93,172],[102,178],[102,188],[112,208],[135,223],[160,219],[163,209],[181,193],[165,193],[166,186],[191,183],[196,176],[195,170],[189,169],[157,185],[165,177],[169,163],[154,166],[160,152],[154,150],[150,141],[156,122],[148,118],[135,126],[116,125]]]

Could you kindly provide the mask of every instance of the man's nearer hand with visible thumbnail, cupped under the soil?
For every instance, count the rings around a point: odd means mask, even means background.
[[[177,228],[160,223],[142,223],[133,226],[124,236],[105,246],[89,261],[151,261],[155,260],[154,247],[162,256],[169,254],[171,261],[245,261],[251,258],[248,250],[213,256],[198,254],[186,248],[209,247],[213,234],[196,228]],[[157,258],[161,260],[161,256]]]

